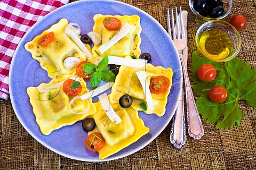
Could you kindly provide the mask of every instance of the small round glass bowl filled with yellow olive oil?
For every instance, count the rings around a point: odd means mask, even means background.
[[[197,30],[196,46],[199,52],[209,60],[226,62],[239,53],[241,37],[230,23],[212,20],[205,22]]]

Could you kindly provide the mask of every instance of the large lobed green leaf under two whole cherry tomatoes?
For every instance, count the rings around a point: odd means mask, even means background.
[[[196,98],[199,114],[207,120],[206,123],[217,123],[217,129],[233,128],[235,124],[239,126],[244,115],[238,107],[238,101],[245,100],[249,107],[256,108],[256,69],[251,69],[248,63],[236,57],[225,63],[209,61],[196,53],[193,53],[192,58],[193,75],[190,79],[194,82],[191,87],[200,95]],[[217,77],[212,82],[197,79],[197,69],[205,63],[212,64],[217,70]],[[224,103],[213,103],[208,97],[208,91],[216,85],[223,86],[228,91]]]

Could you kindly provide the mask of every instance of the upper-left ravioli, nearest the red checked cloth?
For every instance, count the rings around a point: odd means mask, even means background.
[[[77,57],[81,62],[87,60],[82,50],[64,33],[67,24],[66,19],[61,19],[41,35],[25,44],[25,49],[40,63],[42,69],[47,71],[51,79],[59,79],[65,74],[75,73],[76,67],[67,70],[64,66],[67,57]],[[37,44],[38,40],[51,31],[54,32],[54,40],[47,46],[39,46]],[[86,48],[90,49],[90,46],[86,46]]]

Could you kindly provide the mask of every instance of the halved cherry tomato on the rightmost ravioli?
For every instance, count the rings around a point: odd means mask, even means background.
[[[163,75],[153,78],[150,82],[149,89],[154,94],[161,94],[169,87],[170,81]]]

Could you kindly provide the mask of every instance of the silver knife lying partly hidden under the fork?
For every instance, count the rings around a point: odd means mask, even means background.
[[[180,19],[180,17],[178,17],[178,19]],[[178,52],[179,54],[183,53],[185,63],[186,63],[185,65],[187,66],[187,61],[188,61],[188,47],[187,47],[188,12],[187,11],[182,11],[182,19],[183,19],[183,24],[185,27],[185,34],[186,34],[186,48],[183,50],[183,52],[181,50],[178,50]],[[177,29],[176,26],[175,26],[175,29]],[[171,143],[173,144],[173,147],[177,149],[180,149],[186,143],[186,125],[185,125],[185,114],[184,114],[183,88],[180,89],[180,93],[181,94],[180,94],[178,107],[175,111],[175,115],[172,118],[171,135],[170,135]]]

